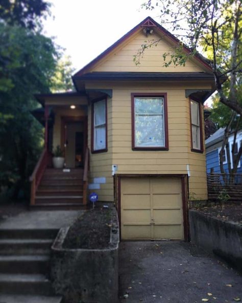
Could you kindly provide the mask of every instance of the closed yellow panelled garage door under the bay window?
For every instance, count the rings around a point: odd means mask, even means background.
[[[184,239],[181,178],[122,178],[120,189],[123,240]]]

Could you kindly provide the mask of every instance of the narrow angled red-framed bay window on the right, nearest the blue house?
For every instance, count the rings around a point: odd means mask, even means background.
[[[191,149],[203,152],[200,104],[190,100],[191,108]]]

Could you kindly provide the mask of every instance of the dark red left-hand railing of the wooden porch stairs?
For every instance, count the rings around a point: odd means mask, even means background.
[[[44,174],[45,168],[49,164],[51,154],[44,148],[42,154],[40,155],[39,161],[37,162],[33,174],[30,177],[31,182],[31,199],[30,205],[35,205],[35,194],[39,186],[40,180]]]

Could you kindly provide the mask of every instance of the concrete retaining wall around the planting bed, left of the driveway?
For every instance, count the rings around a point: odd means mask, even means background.
[[[51,278],[66,303],[118,301],[119,229],[113,209],[110,245],[106,249],[63,249],[68,228],[62,228],[52,246]]]

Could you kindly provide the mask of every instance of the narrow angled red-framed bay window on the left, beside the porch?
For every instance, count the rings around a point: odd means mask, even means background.
[[[107,100],[92,103],[92,153],[107,151]]]

